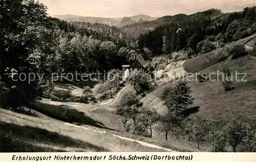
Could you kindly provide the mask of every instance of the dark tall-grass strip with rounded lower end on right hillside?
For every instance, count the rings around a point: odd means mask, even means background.
[[[249,40],[255,38],[256,34],[251,35],[247,38],[240,39],[238,41],[231,42],[230,44],[227,44],[222,49],[218,49],[212,52],[209,52],[204,55],[197,56],[195,58],[189,59],[184,62],[183,67],[184,70],[188,73],[196,73],[201,70],[203,70],[206,67],[212,66],[218,62],[224,61],[228,58],[229,54],[227,53],[227,50],[234,45],[238,44],[245,44]]]

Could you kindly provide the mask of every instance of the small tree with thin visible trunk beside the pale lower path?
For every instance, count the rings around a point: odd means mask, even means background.
[[[150,129],[150,137],[152,138],[152,125],[154,125],[159,120],[159,115],[155,109],[148,109],[143,107],[141,110],[140,121],[147,128]]]

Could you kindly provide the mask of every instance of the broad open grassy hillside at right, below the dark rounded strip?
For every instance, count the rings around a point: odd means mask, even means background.
[[[217,73],[227,66],[232,73],[247,73],[247,82],[234,81],[235,89],[224,91],[221,81],[188,82],[194,105],[200,106],[198,112],[204,118],[226,120],[244,118],[256,124],[256,60],[246,56],[236,60],[227,59],[202,70],[201,73]],[[238,75],[241,79],[243,75]]]

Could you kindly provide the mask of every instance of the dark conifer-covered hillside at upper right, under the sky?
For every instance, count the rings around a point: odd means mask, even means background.
[[[224,43],[236,41],[255,32],[256,7],[245,8],[243,12],[222,14],[219,10],[208,10],[193,15],[162,17],[168,24],[139,36],[138,48],[148,48],[154,55],[186,51],[188,58],[195,53],[207,53],[215,49],[209,42]],[[164,22],[164,21],[162,21]],[[153,21],[148,22],[153,23]],[[203,41],[204,40],[204,41]]]

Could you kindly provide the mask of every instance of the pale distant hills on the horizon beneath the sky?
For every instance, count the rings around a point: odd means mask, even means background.
[[[156,20],[158,17],[151,17],[147,15],[135,15],[130,17],[117,17],[117,18],[105,18],[105,17],[85,17],[85,16],[77,16],[77,15],[52,15],[52,17],[59,18],[61,20],[70,21],[81,21],[81,22],[90,22],[101,23],[110,26],[123,27],[129,24],[133,24],[135,22],[143,22],[143,21],[152,21]]]

